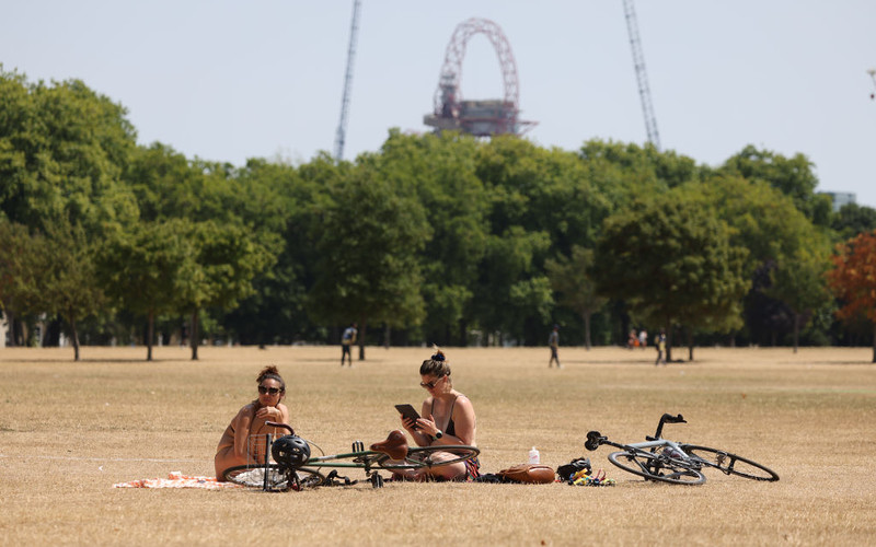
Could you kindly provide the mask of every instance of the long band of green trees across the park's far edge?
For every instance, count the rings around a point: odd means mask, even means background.
[[[356,322],[364,359],[366,344],[543,345],[560,324],[588,348],[666,329],[693,359],[874,336],[866,276],[840,274],[874,253],[876,210],[834,212],[803,154],[748,146],[707,166],[391,129],[351,162],[234,166],[138,144],[126,116],[81,81],[0,67],[10,344],[151,359],[185,339],[196,359],[201,340],[332,344]]]

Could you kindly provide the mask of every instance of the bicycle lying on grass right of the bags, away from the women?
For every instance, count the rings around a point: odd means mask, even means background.
[[[703,469],[711,467],[725,475],[735,475],[753,480],[779,480],[779,475],[763,465],[737,456],[729,452],[679,443],[661,439],[665,423],[687,423],[681,415],[665,414],[660,417],[654,437],[645,437],[646,442],[621,444],[609,441],[599,431],[587,433],[584,446],[589,451],[602,444],[621,449],[609,454],[609,462],[621,469],[644,477],[645,480],[659,480],[673,485],[702,485],[705,482]]]

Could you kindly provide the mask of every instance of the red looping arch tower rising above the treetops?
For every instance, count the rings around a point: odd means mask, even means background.
[[[502,100],[463,101],[462,61],[465,46],[475,34],[484,34],[496,50],[502,68],[505,96]],[[472,18],[459,26],[447,46],[438,89],[435,92],[434,110],[424,117],[424,123],[436,131],[459,130],[477,137],[512,133],[522,135],[533,121],[518,119],[520,85],[517,63],[511,45],[499,25],[487,19]]]

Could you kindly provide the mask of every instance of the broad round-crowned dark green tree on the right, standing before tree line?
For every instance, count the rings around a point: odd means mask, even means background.
[[[726,331],[741,323],[746,251],[729,235],[702,199],[682,191],[636,202],[606,222],[591,269],[598,292],[665,326],[670,359],[675,324]]]

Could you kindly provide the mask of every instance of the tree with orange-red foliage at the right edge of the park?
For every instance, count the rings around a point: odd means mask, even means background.
[[[876,230],[838,245],[832,261],[828,279],[842,303],[837,315],[846,322],[864,317],[873,325],[876,363]]]

